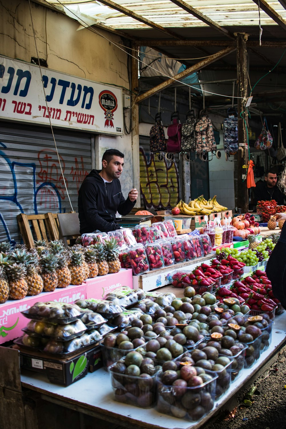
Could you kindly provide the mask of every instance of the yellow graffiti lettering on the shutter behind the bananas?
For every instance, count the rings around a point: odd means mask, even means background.
[[[146,208],[173,207],[179,198],[175,162],[154,159],[157,155],[140,149],[140,187]]]

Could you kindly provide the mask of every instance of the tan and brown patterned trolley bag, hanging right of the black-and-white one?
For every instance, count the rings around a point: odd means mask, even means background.
[[[204,112],[196,123],[196,153],[205,154],[217,150],[210,118]]]

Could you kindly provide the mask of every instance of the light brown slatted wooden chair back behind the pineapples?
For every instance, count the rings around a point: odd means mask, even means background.
[[[45,213],[41,215],[17,215],[18,225],[24,244],[28,249],[34,246],[34,240],[57,240],[59,227],[57,213]]]

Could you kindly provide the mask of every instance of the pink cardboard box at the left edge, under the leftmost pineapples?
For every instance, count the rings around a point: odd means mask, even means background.
[[[54,292],[42,292],[37,296],[26,296],[23,299],[9,299],[4,304],[0,304],[0,344],[14,340],[23,335],[24,328],[29,319],[21,314],[21,311],[28,310],[36,302],[57,301],[74,302],[76,299],[86,298],[86,285],[68,286],[64,289],[56,289]]]

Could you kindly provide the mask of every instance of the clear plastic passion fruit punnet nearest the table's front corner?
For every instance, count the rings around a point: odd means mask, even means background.
[[[157,411],[172,417],[196,421],[214,408],[217,375],[204,370],[211,379],[200,386],[182,387],[163,384],[163,372],[157,374]],[[196,405],[198,404],[198,405]]]

